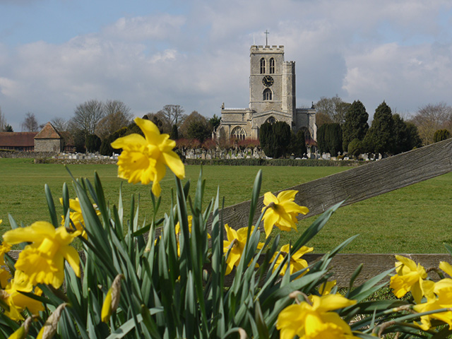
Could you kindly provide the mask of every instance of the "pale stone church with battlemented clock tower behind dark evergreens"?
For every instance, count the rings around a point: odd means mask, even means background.
[[[263,123],[285,121],[292,131],[302,129],[316,141],[316,110],[296,107],[295,61],[284,61],[284,46],[253,45],[249,58],[249,108],[225,108],[223,103],[217,137],[258,139]]]

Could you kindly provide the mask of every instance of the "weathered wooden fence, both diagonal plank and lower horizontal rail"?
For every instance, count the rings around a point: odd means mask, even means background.
[[[452,138],[287,189],[299,191],[295,202],[309,208],[307,215],[299,216],[301,220],[323,213],[340,201],[345,200],[343,206],[347,206],[451,171]],[[294,181],[297,181],[296,177]],[[244,201],[224,208],[223,221],[236,230],[246,226],[250,203]],[[262,207],[263,196],[259,198],[257,211],[260,212]],[[254,222],[258,214],[254,216]],[[426,268],[438,267],[439,261],[452,264],[451,256],[446,254],[405,255]],[[312,263],[321,256],[306,254],[304,258]],[[394,254],[337,254],[331,261],[331,269],[335,273],[332,279],[338,280],[340,287],[348,286],[352,273],[363,263],[362,272],[355,281],[356,284],[364,283],[378,273],[393,268],[395,261]],[[431,273],[431,278],[436,280],[438,277]]]

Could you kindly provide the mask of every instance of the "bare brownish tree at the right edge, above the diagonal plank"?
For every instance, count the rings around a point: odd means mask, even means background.
[[[452,129],[452,107],[445,102],[428,104],[420,107],[415,117],[410,120],[419,131],[419,136],[424,145],[433,143],[435,131],[439,129]]]

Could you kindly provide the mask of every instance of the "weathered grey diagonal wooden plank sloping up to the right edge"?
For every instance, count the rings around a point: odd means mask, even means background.
[[[343,206],[347,206],[451,171],[452,138],[287,189],[299,191],[295,201],[309,208],[307,215],[299,216],[301,220],[323,213],[340,201],[346,200]],[[249,205],[250,201],[244,201],[224,208],[224,222],[234,229],[245,227]],[[259,199],[258,211],[262,207],[263,196]],[[258,214],[254,216],[254,222]]]

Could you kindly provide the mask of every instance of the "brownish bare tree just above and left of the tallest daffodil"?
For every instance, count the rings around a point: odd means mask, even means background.
[[[96,126],[95,133],[102,140],[121,127],[130,124],[132,119],[129,106],[119,100],[108,100],[104,105],[105,117]]]

